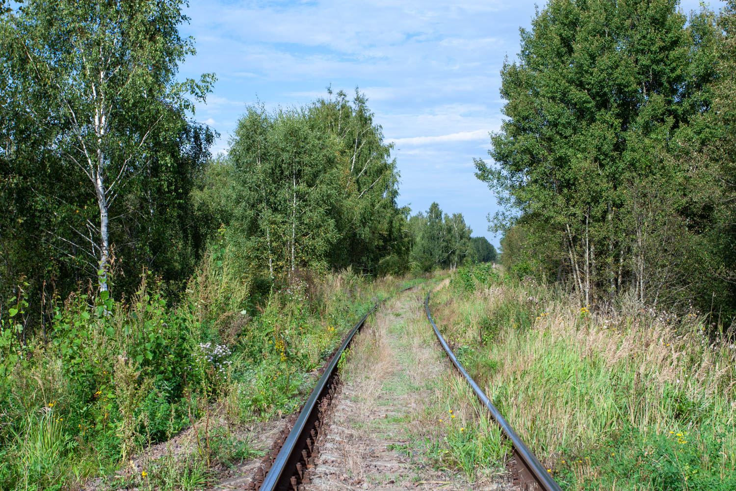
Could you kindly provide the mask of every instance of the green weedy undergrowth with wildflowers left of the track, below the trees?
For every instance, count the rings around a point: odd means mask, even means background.
[[[254,297],[210,259],[177,305],[145,277],[127,301],[79,292],[25,345],[18,300],[0,326],[0,490],[74,490],[93,476],[200,489],[254,454],[227,428],[297,409],[314,383],[305,374],[376,299],[408,286],[296,272]],[[185,428],[191,448],[135,457]]]

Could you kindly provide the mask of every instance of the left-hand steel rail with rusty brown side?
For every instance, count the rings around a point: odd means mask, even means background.
[[[412,289],[414,286],[417,285],[407,286],[400,292],[406,292],[406,290]],[[322,373],[322,377],[319,378],[319,381],[317,381],[311,395],[309,395],[307,402],[304,403],[299,417],[297,417],[294,426],[291,428],[291,431],[289,431],[289,436],[286,437],[286,440],[283,442],[283,446],[272,462],[266,476],[263,478],[263,483],[261,484],[261,487],[258,488],[260,491],[285,491],[289,490],[289,487],[294,487],[294,484],[291,482],[291,477],[294,476],[294,469],[302,460],[302,454],[308,447],[307,439],[310,437],[310,430],[314,427],[314,422],[317,420],[319,400],[328,394],[331,379],[333,378],[342,353],[344,353],[347,345],[349,345],[353,340],[355,333],[357,333],[363,326],[368,316],[376,311],[378,305],[381,305],[381,303],[386,302],[386,300],[389,300],[390,298],[391,297],[386,297],[380,302],[375,303],[375,305],[373,305],[372,308],[370,308],[370,310],[367,311],[360,320],[358,320],[355,327],[353,327],[350,333],[345,337],[342,345],[340,345],[338,350],[336,350],[330,363],[325,367],[325,372]]]

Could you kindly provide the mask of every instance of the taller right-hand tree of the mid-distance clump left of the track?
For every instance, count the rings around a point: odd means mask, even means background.
[[[393,144],[384,143],[383,130],[357,88],[352,100],[343,91],[333,94],[331,88],[328,96],[308,108],[308,118],[337,142],[341,197],[334,219],[340,233],[330,264],[352,265],[371,274],[401,272],[408,255],[403,231],[408,208],[397,205],[399,172],[391,158]]]

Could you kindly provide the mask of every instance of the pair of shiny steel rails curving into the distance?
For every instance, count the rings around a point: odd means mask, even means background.
[[[402,292],[414,288],[410,286]],[[388,300],[388,299],[386,299]],[[297,416],[287,420],[285,427],[276,438],[272,451],[263,458],[250,483],[250,489],[258,491],[302,491],[311,483],[314,475],[315,460],[319,455],[319,442],[325,420],[334,406],[335,396],[341,384],[337,375],[337,368],[342,354],[353,341],[355,334],[363,327],[370,314],[375,312],[381,303],[373,307],[355,324],[350,333],[345,336],[342,344],[328,360],[322,369],[322,376]],[[490,403],[484,392],[475,384],[470,375],[464,370],[454,356],[447,342],[439,333],[429,311],[429,294],[425,298],[427,318],[434,328],[435,335],[445,349],[445,353],[461,372],[468,383],[473,387],[475,395],[480,398],[492,414],[493,419],[500,426],[506,437],[512,442],[514,458],[509,462],[509,471],[514,481],[522,489],[541,491],[561,491],[559,485],[549,476],[542,464],[528,451],[526,445],[517,436],[509,423]],[[542,474],[543,472],[543,474]]]

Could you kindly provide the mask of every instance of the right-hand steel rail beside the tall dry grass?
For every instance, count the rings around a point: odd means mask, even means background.
[[[468,375],[467,371],[465,371],[464,367],[460,364],[460,361],[458,361],[458,358],[456,358],[453,350],[450,349],[450,345],[447,345],[445,338],[442,337],[441,333],[439,333],[439,329],[434,323],[432,314],[429,311],[429,292],[427,293],[427,297],[424,300],[424,307],[425,311],[427,311],[427,319],[429,319],[429,322],[434,329],[434,334],[435,336],[437,336],[439,344],[442,345],[442,347],[445,349],[445,353],[447,353],[447,356],[453,362],[453,365],[455,365],[456,369],[465,378],[467,383],[470,384],[471,387],[473,387],[473,392],[475,392],[475,395],[478,396],[478,399],[480,399],[481,402],[484,403],[486,409],[488,409],[488,411],[491,413],[491,417],[493,418],[493,420],[495,420],[496,424],[500,426],[501,431],[503,431],[503,433],[506,434],[506,437],[511,440],[513,445],[514,457],[516,458],[517,466],[519,467],[519,475],[521,481],[526,481],[526,484],[531,484],[532,487],[536,486],[537,489],[543,491],[562,491],[562,488],[559,487],[559,484],[556,483],[552,476],[550,476],[550,473],[548,473],[548,471],[542,466],[539,460],[537,460],[537,457],[534,456],[534,453],[531,453],[531,451],[527,448],[519,435],[516,434],[514,428],[509,425],[508,421],[506,421],[506,418],[504,418],[500,411],[496,409],[496,406],[491,403],[486,393],[483,392],[483,389],[481,389],[481,387],[475,383],[473,378]]]

